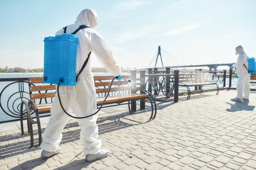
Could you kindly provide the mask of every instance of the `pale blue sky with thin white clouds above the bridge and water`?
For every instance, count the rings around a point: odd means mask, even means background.
[[[43,38],[84,8],[124,69],[154,67],[159,46],[164,66],[232,63],[238,45],[256,57],[255,0],[1,0],[0,67],[43,68]]]

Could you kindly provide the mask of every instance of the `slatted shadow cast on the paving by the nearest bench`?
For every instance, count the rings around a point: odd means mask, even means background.
[[[146,114],[146,115],[145,115]],[[105,113],[100,115],[97,120],[99,126],[99,135],[105,134],[107,132],[113,132],[114,130],[120,130],[123,128],[129,128],[134,125],[141,125],[148,123],[149,116],[151,113],[149,111],[139,111],[138,113],[129,114],[126,113]],[[30,135],[21,135],[21,133],[14,133],[8,135],[2,135],[0,137],[0,159],[6,159],[9,157],[20,157],[19,155],[29,154],[35,152],[38,149],[38,130],[33,128],[34,132],[34,145],[35,147],[30,147]],[[44,128],[42,129],[43,132]],[[67,143],[73,142],[75,140],[80,140],[80,128],[77,122],[68,123],[63,130],[63,140],[60,144],[65,145]],[[6,142],[8,141],[8,142]],[[40,164],[42,158],[31,159],[34,164]],[[26,164],[28,163],[26,162]],[[25,163],[24,163],[25,164]],[[32,164],[33,165],[33,164]]]

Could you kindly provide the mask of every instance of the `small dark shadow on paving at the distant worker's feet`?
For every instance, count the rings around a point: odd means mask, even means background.
[[[242,101],[242,102],[234,102],[234,103],[228,103],[230,105],[230,108],[227,108],[226,111],[228,112],[236,112],[236,111],[253,111],[255,106],[250,106],[249,102]]]

